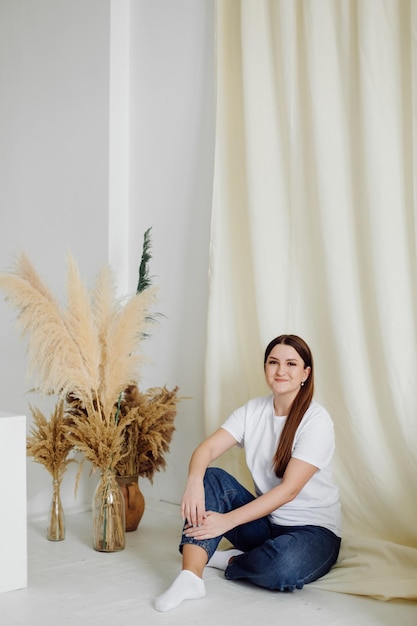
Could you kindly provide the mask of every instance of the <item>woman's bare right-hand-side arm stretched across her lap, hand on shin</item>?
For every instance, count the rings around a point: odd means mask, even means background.
[[[292,458],[280,485],[229,513],[207,511],[200,527],[188,529],[187,535],[196,539],[211,539],[224,535],[236,526],[265,517],[291,502],[316,471],[317,467],[314,465]]]

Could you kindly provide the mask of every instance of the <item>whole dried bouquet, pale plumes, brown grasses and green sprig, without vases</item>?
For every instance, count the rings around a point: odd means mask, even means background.
[[[18,312],[28,339],[28,370],[36,389],[58,398],[48,421],[32,408],[34,425],[27,453],[62,479],[74,449],[102,473],[153,480],[166,468],[175,431],[178,388],[137,386],[143,357],[139,344],[155,320],[150,311],[150,229],[144,237],[136,294],[116,296],[115,278],[104,266],[88,291],[71,255],[67,260],[66,305],[61,305],[22,253],[0,288]],[[76,489],[82,463],[76,478]]]

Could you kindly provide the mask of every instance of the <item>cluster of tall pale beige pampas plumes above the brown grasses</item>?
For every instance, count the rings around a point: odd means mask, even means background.
[[[73,393],[86,406],[98,398],[109,415],[119,393],[138,379],[138,348],[151,321],[155,290],[118,300],[106,267],[89,294],[71,255],[67,267],[66,308],[24,253],[10,272],[0,273],[0,288],[18,311],[21,333],[28,338],[28,369],[39,392]]]

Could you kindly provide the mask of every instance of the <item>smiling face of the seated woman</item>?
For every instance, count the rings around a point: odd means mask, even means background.
[[[265,377],[268,386],[276,396],[286,396],[292,402],[305,382],[311,368],[304,367],[298,352],[285,344],[276,345],[265,363]]]

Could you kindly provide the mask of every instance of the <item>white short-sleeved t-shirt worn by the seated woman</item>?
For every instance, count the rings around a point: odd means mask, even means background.
[[[232,413],[222,428],[245,449],[246,463],[252,475],[255,493],[260,496],[282,482],[274,473],[272,459],[286,417],[276,416],[273,396],[254,398]],[[273,524],[322,526],[341,536],[339,493],[333,482],[331,459],[334,452],[334,429],[330,415],[313,401],[297,428],[293,457],[318,468],[300,493],[273,511]]]

